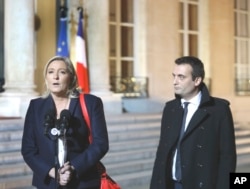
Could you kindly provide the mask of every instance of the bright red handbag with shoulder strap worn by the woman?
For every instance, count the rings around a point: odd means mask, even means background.
[[[80,103],[81,103],[81,108],[83,112],[83,116],[85,118],[85,121],[87,123],[88,129],[89,129],[89,141],[90,143],[92,142],[92,135],[91,135],[91,127],[90,127],[90,119],[89,119],[89,114],[87,110],[87,106],[85,103],[85,98],[84,94],[80,94]],[[116,183],[106,172],[105,166],[99,162],[98,165],[98,171],[101,176],[101,188],[100,189],[121,189],[121,187]]]

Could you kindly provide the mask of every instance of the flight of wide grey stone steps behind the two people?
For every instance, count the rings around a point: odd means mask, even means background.
[[[107,117],[110,150],[102,159],[122,188],[149,183],[160,136],[160,114]],[[32,172],[20,153],[23,120],[0,120],[0,188],[31,189]],[[2,136],[4,135],[4,136]],[[237,167],[250,164],[250,129],[236,128]]]

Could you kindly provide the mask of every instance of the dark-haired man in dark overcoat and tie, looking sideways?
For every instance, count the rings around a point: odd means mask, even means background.
[[[229,173],[236,169],[233,118],[227,100],[209,95],[204,76],[198,58],[176,59],[176,98],[163,111],[151,189],[229,189]],[[187,116],[180,136],[184,102]]]

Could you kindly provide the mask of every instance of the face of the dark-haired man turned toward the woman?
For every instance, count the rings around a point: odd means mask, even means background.
[[[185,100],[193,98],[199,92],[201,78],[192,78],[192,67],[189,64],[175,64],[173,70],[173,84],[175,94]]]

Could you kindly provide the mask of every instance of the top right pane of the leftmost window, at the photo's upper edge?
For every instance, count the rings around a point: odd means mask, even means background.
[[[121,0],[121,22],[133,23],[133,0]]]

